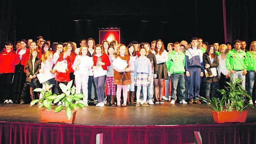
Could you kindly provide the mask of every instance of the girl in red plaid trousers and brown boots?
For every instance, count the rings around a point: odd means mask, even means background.
[[[113,61],[115,60],[114,48],[109,47],[109,61],[111,65],[108,67],[107,78],[106,78],[106,95],[107,95],[107,103],[106,106],[114,106],[115,105],[115,84],[114,84],[114,69],[113,69]]]

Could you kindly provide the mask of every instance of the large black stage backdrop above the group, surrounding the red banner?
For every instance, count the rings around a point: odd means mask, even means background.
[[[16,18],[13,19],[17,31],[16,37],[9,38],[12,41],[42,35],[52,42],[79,42],[89,37],[98,42],[98,28],[118,27],[121,42],[125,44],[159,38],[165,44],[190,42],[193,36],[210,43],[224,42],[221,0],[15,2]],[[3,31],[10,33],[14,29]]]

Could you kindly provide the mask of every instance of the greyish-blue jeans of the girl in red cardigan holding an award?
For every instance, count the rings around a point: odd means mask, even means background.
[[[100,77],[95,77],[95,85],[96,85],[96,93],[98,96],[98,102],[103,102],[104,101],[104,82],[106,80],[106,75],[100,76]]]

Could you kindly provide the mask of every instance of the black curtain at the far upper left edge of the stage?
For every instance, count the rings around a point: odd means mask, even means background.
[[[10,40],[14,42],[15,31],[15,0],[0,1],[0,49],[4,47],[4,42]]]

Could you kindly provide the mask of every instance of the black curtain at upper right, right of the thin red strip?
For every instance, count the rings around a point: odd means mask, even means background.
[[[250,42],[256,39],[256,1],[226,0],[227,41],[236,39]]]

